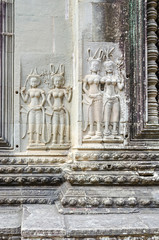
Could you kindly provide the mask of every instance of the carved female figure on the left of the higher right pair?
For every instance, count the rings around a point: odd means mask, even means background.
[[[98,55],[98,56],[97,56]],[[99,49],[91,57],[91,51],[88,49],[88,62],[90,65],[90,74],[83,80],[83,115],[84,131],[89,126],[88,134],[84,139],[101,139],[101,121],[102,121],[102,92],[100,90],[101,77],[100,71],[102,51]],[[95,123],[97,125],[95,132]]]

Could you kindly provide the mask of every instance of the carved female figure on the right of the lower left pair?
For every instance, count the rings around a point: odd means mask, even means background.
[[[58,69],[59,70],[59,69]],[[52,81],[54,88],[49,91],[48,103],[52,109],[52,144],[57,144],[58,135],[60,136],[60,144],[69,143],[69,112],[64,106],[64,98],[68,102],[71,101],[72,89],[70,87],[64,87],[64,68],[60,66],[60,73],[58,70],[52,72]],[[64,140],[64,135],[66,135],[66,140]]]

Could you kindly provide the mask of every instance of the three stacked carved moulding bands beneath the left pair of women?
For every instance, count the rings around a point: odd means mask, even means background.
[[[1,158],[1,186],[53,186],[64,182],[64,158]]]

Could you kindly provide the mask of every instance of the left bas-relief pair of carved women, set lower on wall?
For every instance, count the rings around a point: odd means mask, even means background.
[[[45,70],[41,74],[36,69],[32,70],[21,88],[21,98],[25,103],[21,105],[22,138],[28,134],[29,150],[69,148],[70,115],[64,99],[71,101],[72,88],[64,86],[63,65],[57,71],[53,64],[50,67],[50,71]],[[42,80],[45,89],[38,87]]]

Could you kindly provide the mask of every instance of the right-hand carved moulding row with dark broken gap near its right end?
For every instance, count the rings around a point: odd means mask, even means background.
[[[129,185],[129,186],[150,186],[159,185],[159,176],[153,170],[150,171],[135,171],[135,172],[120,172],[120,173],[72,173],[65,174],[65,179],[72,185]]]

